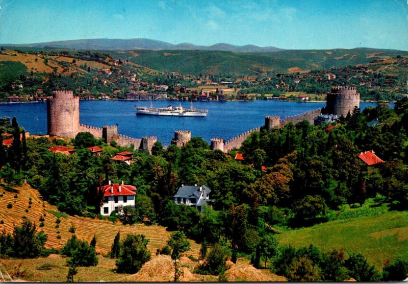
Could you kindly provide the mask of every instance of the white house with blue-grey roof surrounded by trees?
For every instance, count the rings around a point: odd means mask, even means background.
[[[182,184],[179,191],[174,195],[174,203],[193,206],[196,207],[198,211],[202,212],[203,205],[212,201],[209,197],[210,192],[210,188],[206,185],[198,186],[195,184],[193,186]]]

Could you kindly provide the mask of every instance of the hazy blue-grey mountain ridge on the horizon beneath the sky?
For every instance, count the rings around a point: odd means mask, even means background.
[[[256,45],[232,45],[227,43],[216,43],[210,46],[195,45],[192,43],[172,44],[160,40],[153,40],[147,38],[133,38],[133,39],[110,39],[110,38],[95,38],[95,39],[77,39],[77,40],[63,40],[50,41],[30,44],[2,44],[4,46],[22,46],[33,48],[59,48],[59,49],[77,49],[77,50],[112,50],[112,51],[126,51],[126,50],[205,50],[205,51],[230,51],[237,53],[246,52],[276,52],[283,49],[275,48],[274,46],[260,47]]]

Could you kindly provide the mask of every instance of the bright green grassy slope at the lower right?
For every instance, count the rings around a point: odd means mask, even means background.
[[[277,234],[281,245],[313,244],[322,251],[344,248],[362,253],[379,270],[387,259],[408,261],[408,211],[386,212],[376,217],[336,220]]]

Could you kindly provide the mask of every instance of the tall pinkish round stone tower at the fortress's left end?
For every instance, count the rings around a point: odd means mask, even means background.
[[[80,126],[80,101],[72,91],[53,91],[47,99],[48,134],[75,137]]]

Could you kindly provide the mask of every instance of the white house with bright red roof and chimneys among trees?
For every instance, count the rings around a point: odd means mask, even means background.
[[[119,206],[135,206],[136,186],[122,183],[111,183],[98,187],[104,193],[104,201],[100,206],[100,214],[111,215]]]

